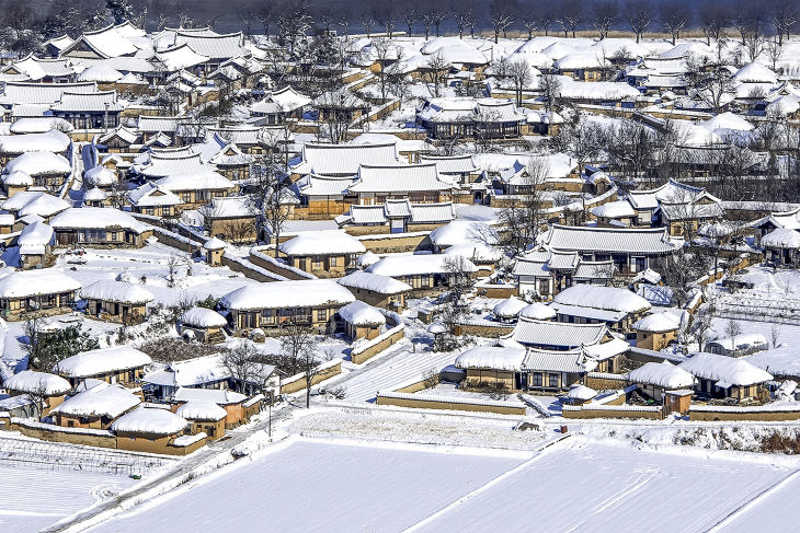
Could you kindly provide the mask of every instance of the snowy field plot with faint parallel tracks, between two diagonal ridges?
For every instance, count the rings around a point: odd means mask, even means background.
[[[418,531],[700,532],[789,475],[746,461],[564,441]],[[524,505],[508,495],[524,495]]]

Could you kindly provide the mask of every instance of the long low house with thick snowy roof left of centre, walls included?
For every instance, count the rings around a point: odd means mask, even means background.
[[[325,332],[339,309],[353,301],[350,290],[335,281],[313,279],[245,286],[222,297],[219,304],[236,331],[294,324]]]

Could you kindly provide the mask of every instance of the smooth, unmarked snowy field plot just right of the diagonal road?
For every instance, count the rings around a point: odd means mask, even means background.
[[[448,451],[293,442],[93,531],[402,531],[524,461]]]

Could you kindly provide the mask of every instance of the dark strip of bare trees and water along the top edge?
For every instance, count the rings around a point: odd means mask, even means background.
[[[35,9],[32,9],[32,4]],[[707,39],[745,40],[748,35],[791,35],[800,7],[797,0],[0,0],[7,49],[24,50],[53,36],[76,36],[111,22],[130,20],[148,31],[165,26],[213,26],[220,32],[285,35],[320,31],[340,35],[534,34],[575,36],[591,32],[604,38],[627,32],[637,38],[687,32]]]

